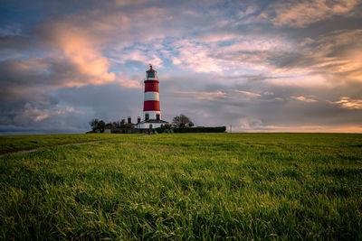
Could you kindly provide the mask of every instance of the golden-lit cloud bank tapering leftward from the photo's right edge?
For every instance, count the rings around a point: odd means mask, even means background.
[[[321,34],[315,39],[295,39],[294,46],[285,51],[214,51],[210,54],[215,60],[255,63],[281,69],[286,72],[282,78],[291,78],[289,70],[304,70],[310,74],[329,75],[330,82],[360,81],[362,52],[362,30],[338,30]],[[215,52],[215,53],[214,53]],[[271,74],[254,76],[233,76],[231,79],[278,79]]]

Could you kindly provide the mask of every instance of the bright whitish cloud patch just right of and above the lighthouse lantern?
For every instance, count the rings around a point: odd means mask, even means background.
[[[173,42],[172,63],[186,70],[224,74],[245,74],[250,71],[269,71],[272,66],[268,59],[276,51],[291,51],[293,44],[281,37],[259,35],[208,33],[203,40],[178,40]],[[220,37],[222,36],[222,37]],[[230,41],[226,45],[220,45]]]

